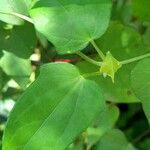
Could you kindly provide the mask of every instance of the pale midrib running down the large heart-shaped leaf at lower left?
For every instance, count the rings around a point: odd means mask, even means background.
[[[74,88],[72,88],[67,94],[66,96],[58,103],[57,106],[59,106],[63,100],[68,97],[68,95],[70,95],[71,93],[73,93],[75,91],[75,89],[80,85],[81,81],[83,80],[83,77],[80,77],[80,79],[78,80],[77,78],[77,83],[74,85]],[[57,109],[57,106],[53,109],[52,113],[55,112],[55,110]],[[28,144],[30,143],[30,141],[32,140],[32,138],[36,135],[36,133],[38,133],[38,131],[40,131],[40,129],[44,126],[44,124],[47,122],[47,120],[51,117],[52,113],[50,113],[50,115],[48,115],[48,117],[45,119],[45,121],[40,125],[40,127],[35,131],[35,133],[30,137],[30,139],[27,141],[27,143],[24,145],[22,150],[25,150],[26,147],[28,146]]]

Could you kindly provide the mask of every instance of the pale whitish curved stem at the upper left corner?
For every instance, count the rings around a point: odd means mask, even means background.
[[[19,13],[15,13],[15,12],[2,12],[2,11],[0,11],[0,14],[16,16],[16,17],[19,17],[19,18],[21,18],[21,19],[23,19],[25,21],[28,21],[28,22],[30,22],[30,23],[33,24],[33,20],[30,17],[22,15],[22,14],[19,14]]]

